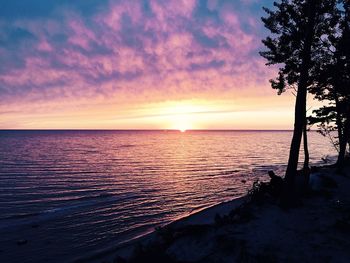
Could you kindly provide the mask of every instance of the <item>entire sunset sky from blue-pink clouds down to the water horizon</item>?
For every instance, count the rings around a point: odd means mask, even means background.
[[[291,129],[258,0],[0,0],[0,129]]]

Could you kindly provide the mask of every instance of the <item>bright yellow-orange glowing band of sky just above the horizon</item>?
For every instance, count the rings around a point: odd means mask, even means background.
[[[68,102],[14,105],[0,118],[2,129],[262,129],[293,128],[294,96],[222,94],[219,99],[173,99],[158,102],[119,101],[72,106]],[[209,97],[209,96],[208,96]],[[308,105],[316,106],[309,100]],[[1,107],[0,107],[1,110]],[[310,112],[312,109],[310,110]]]

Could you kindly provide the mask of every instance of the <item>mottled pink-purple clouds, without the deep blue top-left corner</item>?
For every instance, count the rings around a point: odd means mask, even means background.
[[[272,75],[252,56],[260,38],[242,29],[234,10],[209,1],[208,9],[217,10],[222,23],[201,23],[193,16],[196,1],[151,1],[150,8],[147,14],[137,1],[110,2],[88,23],[73,12],[61,22],[18,20],[16,25],[39,41],[25,54],[25,66],[0,73],[0,81],[23,90],[16,101],[114,100],[130,93],[131,102],[145,94],[157,94],[147,99],[159,100],[255,91]],[[62,34],[66,40],[54,40]]]

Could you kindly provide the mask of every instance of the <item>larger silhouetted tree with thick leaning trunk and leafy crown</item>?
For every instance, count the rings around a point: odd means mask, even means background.
[[[286,88],[296,90],[294,131],[285,175],[286,196],[292,196],[298,168],[299,150],[306,127],[306,96],[315,85],[310,75],[317,65],[321,36],[334,27],[330,19],[336,0],[281,0],[274,2],[275,10],[264,8],[267,17],[262,21],[271,36],[263,40],[267,50],[260,55],[267,65],[279,65],[278,77],[270,80],[279,93]]]

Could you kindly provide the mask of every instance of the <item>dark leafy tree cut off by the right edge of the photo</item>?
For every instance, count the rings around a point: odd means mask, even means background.
[[[343,0],[342,10],[333,14],[338,23],[336,30],[323,36],[323,59],[318,61],[314,74],[317,87],[310,91],[320,101],[329,101],[309,117],[311,124],[318,123],[321,134],[329,136],[337,131],[333,141],[339,154],[337,165],[342,167],[350,129],[350,4]]]

